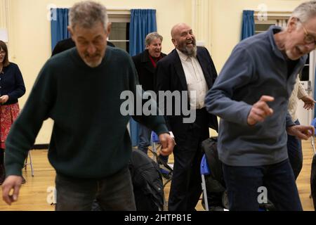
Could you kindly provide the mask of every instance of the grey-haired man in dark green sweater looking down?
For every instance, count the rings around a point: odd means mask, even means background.
[[[101,4],[75,4],[68,29],[76,48],[46,62],[6,141],[3,199],[8,205],[18,200],[25,157],[50,117],[48,159],[56,170],[56,210],[91,210],[95,198],[104,210],[136,210],[128,169],[131,116],[120,111],[123,91],[140,95],[133,61],[125,51],[107,46],[110,26]],[[172,152],[174,141],[162,116],[133,118],[159,134],[162,155]]]

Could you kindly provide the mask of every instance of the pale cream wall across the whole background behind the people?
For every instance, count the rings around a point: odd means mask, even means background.
[[[42,65],[51,55],[50,22],[46,19],[48,4],[58,7],[72,6],[76,0],[9,0],[13,37],[10,37],[11,58],[22,70],[27,93],[20,99],[23,106],[34,80]],[[192,24],[192,1],[194,0],[108,0],[100,1],[107,8],[155,8],[157,9],[158,32],[164,36],[163,51],[169,53],[171,27],[180,22]],[[199,1],[199,0],[196,0]],[[203,0],[202,0],[203,1]],[[292,11],[301,0],[209,0],[211,55],[218,72],[225,60],[239,42],[242,27],[242,11],[257,10],[259,4],[266,4],[269,11]],[[197,27],[198,29],[198,27]],[[39,105],[39,107],[41,107]],[[52,122],[44,124],[37,143],[48,143]]]

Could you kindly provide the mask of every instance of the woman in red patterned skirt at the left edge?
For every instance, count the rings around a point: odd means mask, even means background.
[[[20,112],[18,98],[25,94],[25,85],[18,65],[8,60],[8,48],[0,41],[0,184],[6,177],[4,169],[5,141],[11,125]],[[25,179],[22,179],[25,183]]]

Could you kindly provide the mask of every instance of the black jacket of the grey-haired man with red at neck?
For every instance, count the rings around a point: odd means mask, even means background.
[[[160,56],[163,58],[166,54],[161,53]],[[154,65],[149,58],[148,50],[133,56],[133,62],[138,73],[139,83],[143,86],[144,91],[154,91]]]

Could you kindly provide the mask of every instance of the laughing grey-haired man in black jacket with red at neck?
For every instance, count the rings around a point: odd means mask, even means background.
[[[154,69],[156,68],[156,63],[166,56],[166,54],[162,53],[162,40],[162,35],[157,32],[147,34],[145,38],[145,51],[133,56],[133,62],[138,72],[139,83],[142,85],[144,91],[154,91]],[[142,124],[138,124],[138,128],[138,149],[147,154],[152,130]],[[168,161],[168,156],[160,155],[159,158],[164,162]]]

